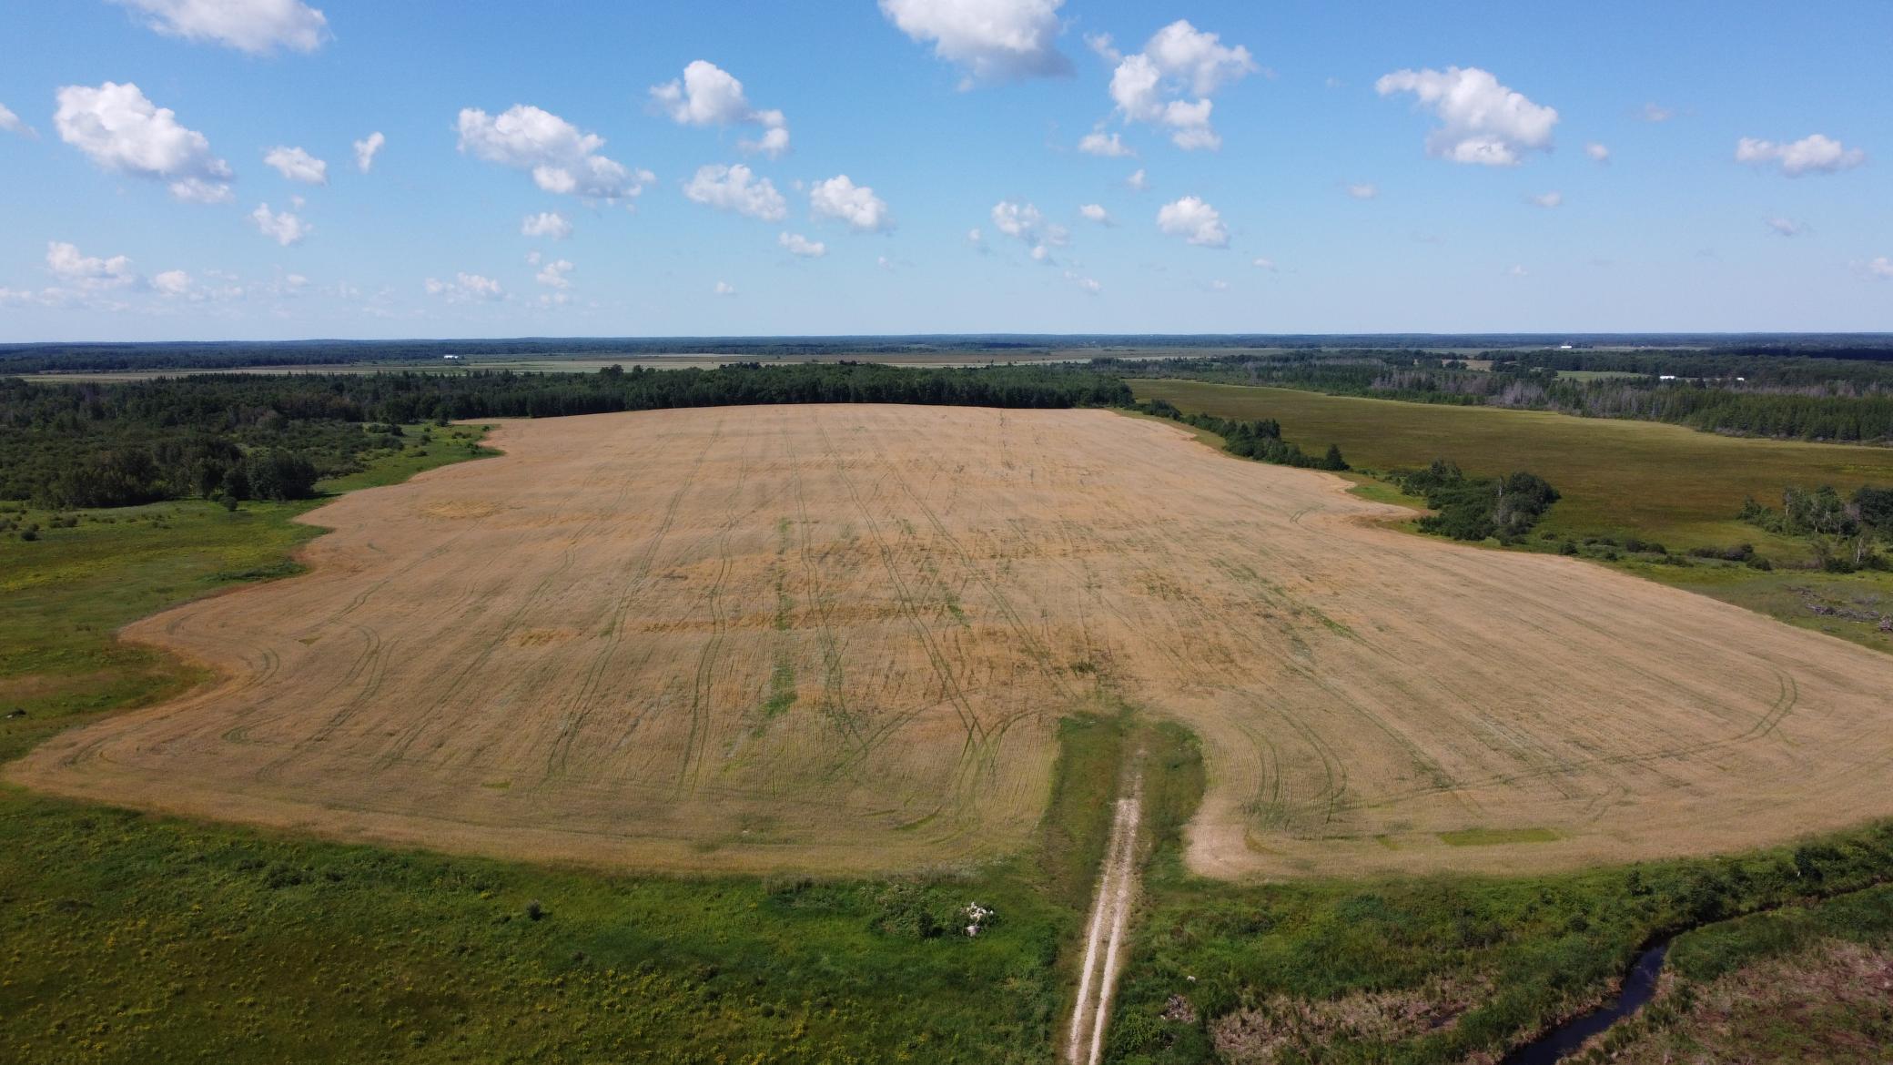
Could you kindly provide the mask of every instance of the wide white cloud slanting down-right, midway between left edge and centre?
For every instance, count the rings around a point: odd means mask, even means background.
[[[649,171],[632,171],[600,155],[604,138],[596,133],[581,133],[570,121],[528,104],[513,104],[500,116],[464,108],[458,125],[462,152],[530,171],[532,182],[551,193],[636,199],[644,186],[657,180]]]

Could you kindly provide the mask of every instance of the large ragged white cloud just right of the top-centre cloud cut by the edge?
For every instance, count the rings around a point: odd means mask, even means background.
[[[1247,47],[1229,47],[1217,34],[1177,19],[1157,30],[1143,51],[1117,63],[1111,100],[1124,121],[1168,127],[1170,140],[1185,152],[1213,150],[1223,146],[1223,138],[1210,125],[1215,106],[1210,95],[1257,70]],[[1196,99],[1187,100],[1185,95]]]

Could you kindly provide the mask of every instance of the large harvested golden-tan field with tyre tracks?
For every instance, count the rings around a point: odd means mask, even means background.
[[[1893,659],[1107,411],[505,423],[312,572],[133,625],[225,680],[38,788],[505,857],[903,870],[1022,847],[1054,722],[1202,737],[1206,874],[1526,872],[1893,813]]]

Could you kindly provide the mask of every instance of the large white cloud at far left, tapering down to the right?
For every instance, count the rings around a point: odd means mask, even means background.
[[[53,127],[98,167],[168,182],[170,195],[197,203],[231,199],[231,167],[210,140],[178,123],[176,112],[151,104],[133,83],[106,81],[59,89]]]

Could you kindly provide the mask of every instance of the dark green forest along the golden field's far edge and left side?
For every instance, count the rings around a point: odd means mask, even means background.
[[[119,385],[0,377],[0,498],[55,508],[305,498],[401,423],[748,404],[1128,406],[1081,370],[869,364],[598,373],[191,375]],[[367,428],[363,428],[363,424]]]

